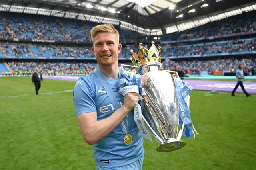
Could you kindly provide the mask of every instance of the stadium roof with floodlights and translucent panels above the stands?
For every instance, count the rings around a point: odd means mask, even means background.
[[[63,14],[60,17],[64,17],[65,13],[77,14],[76,18],[79,14],[98,16],[124,21],[144,29],[163,30],[201,16],[217,15],[255,4],[254,0],[146,0],[147,4],[141,2],[142,0],[0,0],[0,7],[8,8],[5,11],[9,12],[16,12],[10,10],[12,6],[26,7],[26,10],[48,9],[55,11],[55,14],[50,12],[48,15]],[[25,8],[21,9],[23,11],[20,12],[24,12]],[[38,14],[38,11],[34,14]]]

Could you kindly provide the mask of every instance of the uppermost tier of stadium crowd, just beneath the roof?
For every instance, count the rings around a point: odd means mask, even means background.
[[[57,17],[7,14],[0,14],[0,37],[2,38],[91,42],[90,29],[96,25],[92,22]],[[134,39],[142,36],[139,33],[131,33],[131,31],[125,31],[119,27],[118,30],[121,32],[120,39],[124,39],[124,37],[125,39]],[[164,35],[161,38],[162,41],[180,41],[248,31],[256,31],[255,11],[225,18],[186,31]]]

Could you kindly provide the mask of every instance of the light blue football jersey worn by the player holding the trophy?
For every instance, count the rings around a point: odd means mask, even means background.
[[[114,113],[115,109],[101,82],[108,81],[119,107],[124,102],[124,97],[118,93],[117,79],[106,78],[97,68],[103,80],[99,80],[95,71],[87,76],[80,77],[74,87],[74,106],[76,115],[88,112],[97,112],[97,120],[105,119]],[[120,69],[119,69],[120,71]],[[102,76],[103,75],[103,76]],[[134,113],[128,113],[128,129],[132,135],[132,143],[124,144],[124,134],[120,124],[106,137],[93,145],[96,166],[118,167],[130,164],[144,155],[143,138],[134,121]]]

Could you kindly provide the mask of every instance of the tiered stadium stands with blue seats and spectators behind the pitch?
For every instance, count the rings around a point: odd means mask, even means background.
[[[90,29],[97,23],[31,14],[0,13],[0,72],[30,75],[36,65],[44,74],[87,73],[95,68]],[[131,64],[130,49],[138,42],[150,47],[154,36],[121,29],[120,63]],[[184,74],[232,73],[244,64],[246,75],[255,75],[256,12],[246,12],[200,27],[158,37],[166,69]],[[136,42],[133,42],[136,40]],[[172,62],[176,66],[172,65]],[[12,72],[12,71],[11,71]],[[4,74],[8,75],[8,74]]]

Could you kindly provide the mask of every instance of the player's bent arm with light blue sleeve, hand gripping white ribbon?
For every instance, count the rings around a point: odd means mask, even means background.
[[[78,123],[89,145],[93,145],[113,131],[138,102],[138,94],[130,92],[124,96],[124,104],[119,109],[109,117],[97,121],[95,91],[88,80],[78,80],[73,94]]]

